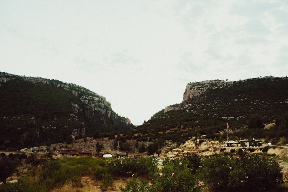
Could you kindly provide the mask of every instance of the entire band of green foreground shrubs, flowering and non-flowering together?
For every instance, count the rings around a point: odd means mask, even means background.
[[[18,183],[1,185],[0,191],[51,191],[65,183],[82,187],[84,175],[99,181],[103,191],[113,189],[115,179],[131,178],[120,187],[123,192],[263,191],[283,183],[282,167],[273,158],[252,155],[245,148],[237,154],[200,157],[187,153],[180,158],[167,157],[161,169],[150,158],[63,158],[34,169]]]

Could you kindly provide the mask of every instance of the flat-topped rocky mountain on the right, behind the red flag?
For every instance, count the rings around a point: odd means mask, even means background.
[[[188,83],[183,101],[165,107],[138,126],[140,134],[134,138],[162,137],[178,144],[200,135],[226,140],[228,123],[229,139],[266,138],[275,143],[281,137],[288,138],[287,110],[287,77]]]

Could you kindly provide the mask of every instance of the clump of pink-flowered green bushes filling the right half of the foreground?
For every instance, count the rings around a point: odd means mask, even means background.
[[[184,154],[181,159],[166,159],[149,178],[133,175],[121,191],[263,191],[283,183],[281,170],[273,158],[251,155],[245,149],[236,158]]]

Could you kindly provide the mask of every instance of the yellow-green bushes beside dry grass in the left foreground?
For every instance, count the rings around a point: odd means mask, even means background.
[[[73,187],[82,187],[82,175],[93,175],[103,166],[106,166],[106,162],[102,158],[75,157],[52,160],[44,164],[41,170],[36,168],[18,179],[18,183],[1,185],[0,191],[50,191],[55,187],[62,187],[65,183],[72,183]],[[102,183],[105,183],[103,188],[107,188],[105,179],[111,178],[111,175],[106,175],[109,174],[108,169],[103,174],[104,176],[101,178]],[[111,184],[113,180],[109,180],[109,182]]]

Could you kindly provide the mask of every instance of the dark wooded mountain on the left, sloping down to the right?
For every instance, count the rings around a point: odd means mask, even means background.
[[[135,126],[105,97],[73,83],[0,72],[0,149],[22,149]]]

